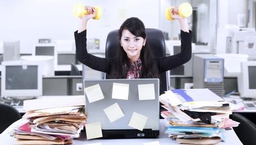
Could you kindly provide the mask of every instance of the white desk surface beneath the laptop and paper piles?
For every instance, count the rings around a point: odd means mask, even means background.
[[[1,136],[0,136],[0,141],[4,144],[14,144],[15,142],[15,138],[10,137],[9,134],[7,134],[6,132],[8,132],[9,130],[11,130],[11,126],[9,126],[6,131],[4,131]],[[159,143],[161,145],[163,144],[178,144],[176,143],[176,141],[173,141],[172,139],[170,139],[168,137],[167,134],[164,133],[165,131],[165,126],[164,126],[164,120],[160,120],[160,135],[158,138],[148,138],[148,139],[91,139],[91,140],[87,140],[86,139],[86,135],[85,135],[85,131],[81,132],[81,137],[80,139],[75,139],[75,144],[87,144],[87,143],[101,143],[102,145],[105,144],[111,144],[111,145],[115,145],[115,144],[143,144],[145,142],[153,142],[153,141],[159,141]],[[239,138],[237,137],[237,134],[235,134],[234,130],[228,130],[225,131],[225,142],[220,142],[218,144],[232,144],[232,145],[237,145],[237,144],[242,144],[242,142],[240,142]]]

